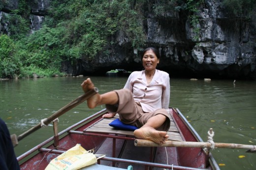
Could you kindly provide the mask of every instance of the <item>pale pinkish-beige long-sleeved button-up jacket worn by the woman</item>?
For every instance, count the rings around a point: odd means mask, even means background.
[[[169,74],[156,70],[148,85],[145,70],[134,71],[130,74],[124,88],[131,90],[135,102],[140,102],[144,112],[153,112],[157,109],[168,109],[170,100]]]

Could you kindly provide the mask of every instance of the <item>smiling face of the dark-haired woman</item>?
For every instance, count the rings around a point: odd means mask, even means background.
[[[142,57],[142,64],[145,70],[151,71],[156,69],[159,63],[159,58],[152,50],[147,51]]]

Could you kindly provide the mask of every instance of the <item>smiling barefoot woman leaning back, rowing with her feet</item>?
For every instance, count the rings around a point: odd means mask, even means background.
[[[145,49],[142,55],[145,70],[132,72],[124,89],[92,96],[87,100],[88,107],[92,109],[106,104],[110,113],[102,117],[111,118],[119,113],[122,122],[139,128],[134,131],[135,137],[165,143],[170,127],[170,84],[169,75],[156,69],[159,61],[158,50],[152,47]],[[94,88],[90,78],[81,86],[85,92]]]

